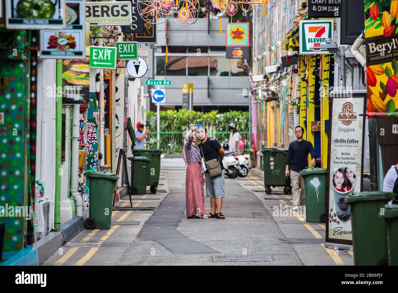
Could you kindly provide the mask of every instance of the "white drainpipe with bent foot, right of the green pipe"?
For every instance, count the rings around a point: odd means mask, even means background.
[[[76,216],[83,216],[83,198],[78,192],[79,177],[79,114],[80,105],[74,104],[72,110],[72,170],[70,181],[70,193],[76,204]]]

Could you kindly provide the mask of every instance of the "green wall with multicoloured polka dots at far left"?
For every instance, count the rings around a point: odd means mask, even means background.
[[[15,31],[13,47],[23,48],[25,31]],[[18,51],[20,52],[20,51]],[[26,61],[22,54],[11,55],[0,60],[0,77],[10,85],[0,89],[0,112],[4,113],[4,124],[0,125],[0,206],[25,206],[25,111],[26,111]],[[7,55],[6,55],[7,56]],[[8,59],[9,58],[9,59]],[[5,134],[5,135],[4,135]],[[27,182],[27,181],[26,181]],[[18,251],[23,248],[23,217],[0,217],[6,223],[4,251]]]

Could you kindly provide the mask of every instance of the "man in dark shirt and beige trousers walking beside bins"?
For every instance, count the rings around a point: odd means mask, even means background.
[[[300,171],[308,167],[308,153],[311,154],[311,167],[315,167],[315,150],[311,142],[303,140],[304,128],[296,126],[295,134],[297,140],[291,142],[286,155],[286,171],[285,175],[289,176],[289,165],[290,165],[290,180],[293,193],[293,210],[298,210],[298,205],[305,205],[305,191],[304,191],[304,178],[300,175]],[[299,195],[298,185],[301,187],[301,193]]]

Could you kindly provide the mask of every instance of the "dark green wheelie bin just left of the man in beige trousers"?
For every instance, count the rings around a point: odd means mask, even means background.
[[[264,147],[263,153],[265,193],[271,194],[271,186],[283,186],[283,192],[290,194],[290,177],[285,176],[287,149],[282,147]]]

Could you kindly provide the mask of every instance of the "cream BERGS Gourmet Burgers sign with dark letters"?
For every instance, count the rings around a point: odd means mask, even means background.
[[[131,25],[131,2],[86,2],[86,22],[98,26]]]

